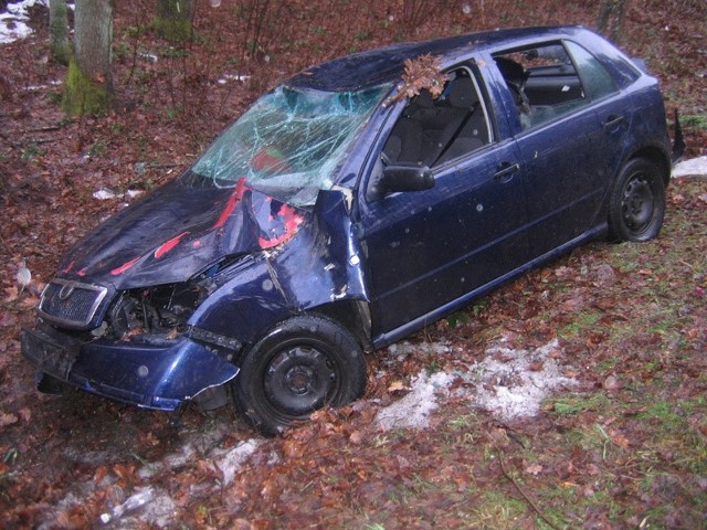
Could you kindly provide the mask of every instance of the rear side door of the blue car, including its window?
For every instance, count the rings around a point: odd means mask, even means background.
[[[516,95],[528,243],[542,256],[583,234],[601,202],[597,116],[561,42],[494,54]],[[513,66],[513,67],[511,67]]]

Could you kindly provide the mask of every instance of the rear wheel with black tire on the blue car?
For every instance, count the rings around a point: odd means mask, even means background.
[[[609,233],[619,241],[657,236],[665,215],[665,183],[661,170],[644,158],[622,168],[609,202]]]

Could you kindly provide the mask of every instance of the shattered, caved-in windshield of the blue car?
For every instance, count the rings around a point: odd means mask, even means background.
[[[191,168],[209,186],[247,186],[308,205],[334,184],[344,153],[390,86],[320,92],[281,86],[261,97]]]

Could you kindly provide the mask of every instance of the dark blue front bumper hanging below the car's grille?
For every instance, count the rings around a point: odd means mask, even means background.
[[[41,374],[93,394],[161,411],[173,411],[239,373],[238,367],[187,337],[159,344],[83,342],[38,327],[22,330],[22,354]]]

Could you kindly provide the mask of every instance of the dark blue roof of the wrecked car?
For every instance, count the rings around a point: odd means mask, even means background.
[[[442,67],[447,67],[474,51],[494,51],[502,46],[521,46],[528,41],[587,33],[591,32],[581,25],[514,28],[394,44],[318,64],[295,75],[286,84],[327,92],[357,91],[399,81],[404,61],[419,55],[431,53],[440,59]]]

